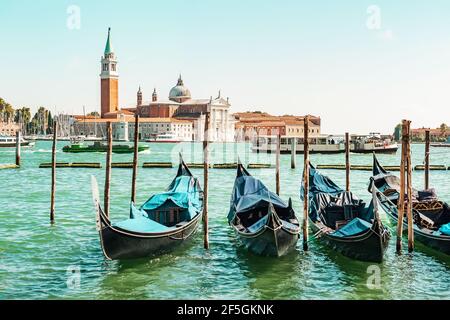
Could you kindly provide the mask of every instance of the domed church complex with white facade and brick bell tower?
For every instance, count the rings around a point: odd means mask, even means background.
[[[215,142],[234,140],[234,117],[229,113],[229,99],[192,99],[181,75],[176,85],[169,91],[167,100],[159,99],[153,90],[150,102],[144,103],[143,91],[139,87],[136,106],[119,108],[117,58],[112,48],[111,29],[104,55],[101,59],[101,118],[77,116],[74,124],[76,135],[105,136],[106,122],[113,123],[115,140],[130,139],[134,133],[134,114],[141,120],[142,139],[152,139],[159,134],[172,135],[181,141],[203,141],[206,113],[209,112],[209,139]],[[132,122],[133,124],[131,124]]]

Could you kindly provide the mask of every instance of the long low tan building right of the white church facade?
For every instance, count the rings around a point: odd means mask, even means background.
[[[304,136],[304,116],[272,116],[262,112],[242,112],[234,114],[236,119],[236,141],[252,140],[257,135],[278,135],[287,137]],[[309,135],[321,134],[320,117],[310,116]]]

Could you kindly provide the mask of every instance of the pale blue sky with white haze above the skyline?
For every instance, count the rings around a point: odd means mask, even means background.
[[[450,125],[449,17],[447,0],[1,0],[0,97],[99,110],[111,27],[121,107],[181,73],[194,98],[317,115],[324,133]]]

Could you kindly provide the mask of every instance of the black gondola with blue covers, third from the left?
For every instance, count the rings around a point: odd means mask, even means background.
[[[304,183],[302,200],[303,190]],[[382,262],[390,233],[381,222],[375,195],[366,206],[310,165],[308,198],[309,221],[317,238],[349,258]]]

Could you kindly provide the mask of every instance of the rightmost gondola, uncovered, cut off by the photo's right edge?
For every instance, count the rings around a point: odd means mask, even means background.
[[[374,155],[373,176],[371,184],[380,191],[378,198],[389,219],[397,224],[397,203],[400,191],[400,179],[386,171]],[[450,254],[450,208],[440,201],[434,189],[412,190],[413,229],[414,237],[424,245]],[[403,230],[407,232],[408,221],[405,216]]]

